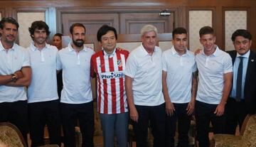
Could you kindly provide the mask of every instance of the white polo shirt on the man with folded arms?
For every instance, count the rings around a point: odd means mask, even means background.
[[[22,67],[30,66],[28,50],[14,43],[8,51],[0,40],[0,75],[11,75]],[[0,85],[0,103],[26,100],[25,87]]]

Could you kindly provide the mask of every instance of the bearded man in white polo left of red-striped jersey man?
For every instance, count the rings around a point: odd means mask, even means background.
[[[57,68],[63,70],[60,98],[65,146],[75,146],[75,125],[79,120],[82,146],[93,146],[94,114],[90,85],[90,58],[95,52],[84,46],[85,26],[70,26],[72,43],[58,52]]]

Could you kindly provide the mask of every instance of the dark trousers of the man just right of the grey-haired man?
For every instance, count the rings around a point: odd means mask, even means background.
[[[191,116],[188,116],[186,104],[174,104],[174,114],[166,114],[166,147],[174,147],[174,136],[176,132],[176,122],[178,120],[178,147],[188,146],[188,130],[191,124]]]

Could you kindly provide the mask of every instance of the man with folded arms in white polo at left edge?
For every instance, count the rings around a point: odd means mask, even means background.
[[[0,22],[0,122],[9,121],[21,131],[27,143],[27,97],[25,87],[31,82],[28,51],[14,43],[18,23],[14,18]]]

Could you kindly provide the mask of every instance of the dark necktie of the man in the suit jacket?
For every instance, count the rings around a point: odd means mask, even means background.
[[[238,77],[237,77],[237,86],[236,86],[236,94],[235,99],[237,102],[240,102],[242,98],[242,57],[240,58],[240,62],[238,65]]]

